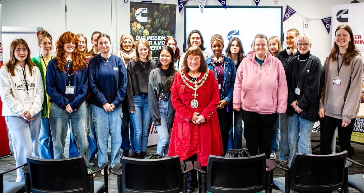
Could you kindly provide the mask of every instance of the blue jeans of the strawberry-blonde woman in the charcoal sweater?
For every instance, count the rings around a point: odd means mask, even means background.
[[[135,113],[130,113],[134,126],[135,152],[147,151],[149,137],[150,110],[148,94],[133,96]]]

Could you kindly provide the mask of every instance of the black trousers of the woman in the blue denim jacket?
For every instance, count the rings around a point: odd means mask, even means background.
[[[232,125],[232,117],[233,117],[233,103],[230,102],[229,104],[225,105],[222,109],[216,109],[217,116],[219,118],[220,124],[220,131],[221,131],[221,138],[222,138],[222,148],[224,150],[224,154],[227,151],[227,145],[229,144],[229,130]]]

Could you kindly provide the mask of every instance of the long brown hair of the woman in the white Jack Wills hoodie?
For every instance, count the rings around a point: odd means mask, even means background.
[[[15,39],[11,44],[10,44],[10,59],[8,60],[8,62],[6,62],[3,66],[7,66],[7,70],[8,72],[11,74],[11,76],[15,76],[15,66],[16,63],[18,62],[18,60],[15,58],[14,52],[15,52],[15,48],[16,46],[18,46],[19,44],[23,44],[23,46],[28,49],[28,55],[27,58],[25,58],[24,62],[25,64],[28,64],[29,66],[29,73],[31,76],[33,76],[33,67],[37,66],[32,62],[32,59],[30,57],[30,49],[29,46],[27,44],[27,42],[25,42],[25,40],[23,39]],[[1,66],[1,67],[3,67]]]

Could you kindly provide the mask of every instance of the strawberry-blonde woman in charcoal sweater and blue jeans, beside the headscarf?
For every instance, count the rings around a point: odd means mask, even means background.
[[[151,70],[157,68],[152,60],[149,42],[141,38],[136,43],[135,59],[127,65],[128,84],[127,104],[134,126],[134,146],[137,158],[147,154],[150,109],[148,103],[148,83]]]

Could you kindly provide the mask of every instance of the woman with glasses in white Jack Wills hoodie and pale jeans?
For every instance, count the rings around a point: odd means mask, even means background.
[[[39,157],[38,136],[44,85],[39,68],[30,58],[23,39],[10,44],[10,59],[0,69],[2,116],[11,133],[16,166],[27,163],[27,156]],[[24,182],[21,168],[16,170],[16,182]]]

